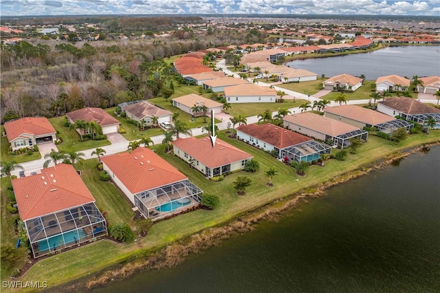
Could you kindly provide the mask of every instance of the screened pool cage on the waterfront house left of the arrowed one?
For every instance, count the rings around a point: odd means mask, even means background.
[[[173,213],[180,213],[201,201],[203,191],[189,180],[168,184],[149,191],[136,193],[135,206],[145,217],[160,219]]]

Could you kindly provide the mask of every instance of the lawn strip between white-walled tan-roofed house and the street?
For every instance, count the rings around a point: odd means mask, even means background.
[[[296,99],[294,100],[284,100],[284,102],[252,102],[245,104],[231,104],[231,109],[228,113],[231,116],[249,117],[256,116],[263,113],[266,109],[270,111],[278,111],[280,108],[294,108],[299,107],[301,104],[306,102],[306,100]]]

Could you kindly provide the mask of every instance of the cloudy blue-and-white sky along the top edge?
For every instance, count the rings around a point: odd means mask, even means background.
[[[439,16],[439,3],[439,0],[0,0],[0,15],[200,13]]]

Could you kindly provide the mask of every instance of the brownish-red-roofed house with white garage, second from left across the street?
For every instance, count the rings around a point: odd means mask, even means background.
[[[120,122],[101,108],[83,108],[66,114],[70,123],[76,120],[85,120],[85,122],[94,121],[102,127],[102,133],[118,132]],[[76,129],[78,133],[89,134],[90,129]]]

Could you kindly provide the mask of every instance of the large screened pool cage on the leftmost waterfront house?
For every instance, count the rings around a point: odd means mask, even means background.
[[[25,220],[34,257],[107,234],[104,217],[93,202]]]

